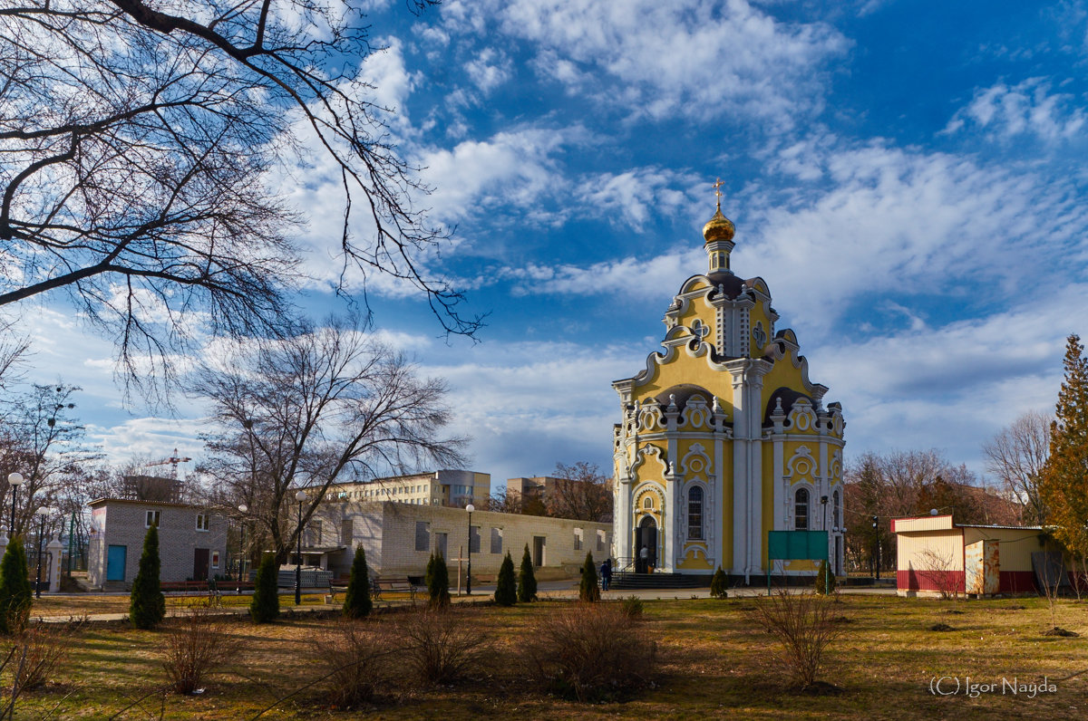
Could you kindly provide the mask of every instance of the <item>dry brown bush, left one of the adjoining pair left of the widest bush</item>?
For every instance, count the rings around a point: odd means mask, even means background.
[[[375,621],[341,619],[310,641],[310,661],[321,670],[318,685],[335,706],[369,701],[391,676],[395,648],[388,626]]]

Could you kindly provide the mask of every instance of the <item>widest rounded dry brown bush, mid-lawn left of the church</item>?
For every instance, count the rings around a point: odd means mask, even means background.
[[[627,604],[578,604],[540,618],[522,641],[530,678],[580,701],[614,698],[646,683],[656,644]]]

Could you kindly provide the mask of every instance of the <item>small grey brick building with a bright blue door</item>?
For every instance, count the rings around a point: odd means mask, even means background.
[[[161,581],[226,573],[226,519],[203,506],[100,498],[90,506],[87,577],[94,586],[132,585],[147,530],[159,526]]]

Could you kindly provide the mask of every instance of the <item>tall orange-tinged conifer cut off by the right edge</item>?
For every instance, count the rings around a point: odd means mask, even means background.
[[[1050,509],[1054,537],[1075,556],[1088,555],[1088,360],[1080,338],[1065,346],[1065,380],[1050,426],[1050,457],[1039,478],[1039,496]]]

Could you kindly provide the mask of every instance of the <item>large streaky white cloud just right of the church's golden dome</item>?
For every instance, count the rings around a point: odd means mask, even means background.
[[[1063,181],[882,144],[814,160],[828,187],[753,198],[732,264],[766,273],[804,326],[830,327],[867,294],[1000,299],[1081,268],[1088,211]]]

